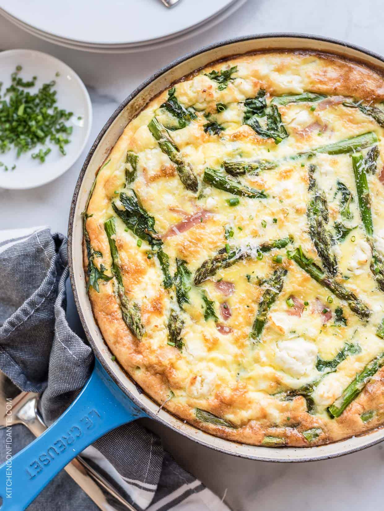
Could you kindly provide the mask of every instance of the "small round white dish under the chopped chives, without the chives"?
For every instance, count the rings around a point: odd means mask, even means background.
[[[37,76],[36,86],[28,89],[31,92],[35,92],[43,83],[56,81],[54,87],[57,90],[56,105],[73,112],[72,118],[66,122],[68,126],[73,126],[73,132],[69,136],[71,142],[65,146],[67,152],[65,156],[50,142],[47,146],[36,146],[18,158],[13,147],[8,152],[0,154],[0,161],[4,163],[4,166],[0,167],[0,188],[9,190],[35,188],[61,176],[80,156],[87,144],[92,125],[92,105],[87,89],[67,64],[51,55],[32,50],[1,52],[0,81],[4,82],[2,92],[10,84],[11,73],[15,71],[17,65],[23,67],[20,72],[23,79]],[[60,76],[56,77],[56,73]],[[81,120],[78,120],[78,117],[81,117]],[[46,161],[41,163],[38,159],[33,159],[31,154],[43,147],[50,147],[52,151],[46,157]],[[13,165],[16,165],[16,168],[11,170]],[[8,167],[8,171],[4,170],[5,166]]]

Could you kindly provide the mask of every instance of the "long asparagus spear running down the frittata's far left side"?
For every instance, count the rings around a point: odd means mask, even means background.
[[[117,294],[120,299],[121,315],[126,326],[131,330],[139,340],[141,340],[143,333],[145,332],[144,326],[141,323],[140,307],[131,300],[125,294],[125,288],[122,279],[119,253],[116,246],[116,224],[114,217],[110,218],[104,223],[104,230],[108,237],[108,243],[110,245],[112,255],[112,274],[115,276],[117,281]]]

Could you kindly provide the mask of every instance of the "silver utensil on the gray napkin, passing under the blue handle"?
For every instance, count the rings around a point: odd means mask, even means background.
[[[37,401],[38,398],[36,394],[30,394],[28,397],[26,393],[25,403],[22,408],[18,410],[17,416],[20,422],[22,422],[31,433],[35,436],[40,436],[47,427],[38,415]],[[119,511],[122,509],[136,511],[129,502],[116,492],[106,479],[80,456],[77,456],[68,463],[64,470],[102,511],[114,511],[114,509],[117,509],[117,507],[114,507],[113,499],[119,502]]]

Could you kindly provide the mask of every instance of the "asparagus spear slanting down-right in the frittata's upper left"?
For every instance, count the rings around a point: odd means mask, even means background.
[[[163,153],[165,153],[176,165],[180,181],[184,184],[185,188],[191,192],[197,192],[197,177],[191,165],[183,160],[179,152],[179,148],[169,136],[169,133],[164,126],[156,119],[156,117],[154,117],[150,124],[148,124],[148,128],[154,138],[158,141],[159,147]]]

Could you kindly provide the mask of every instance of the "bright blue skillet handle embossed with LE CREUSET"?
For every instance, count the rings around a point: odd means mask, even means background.
[[[91,378],[65,413],[0,467],[1,511],[22,511],[62,468],[97,438],[145,416],[96,360]]]

